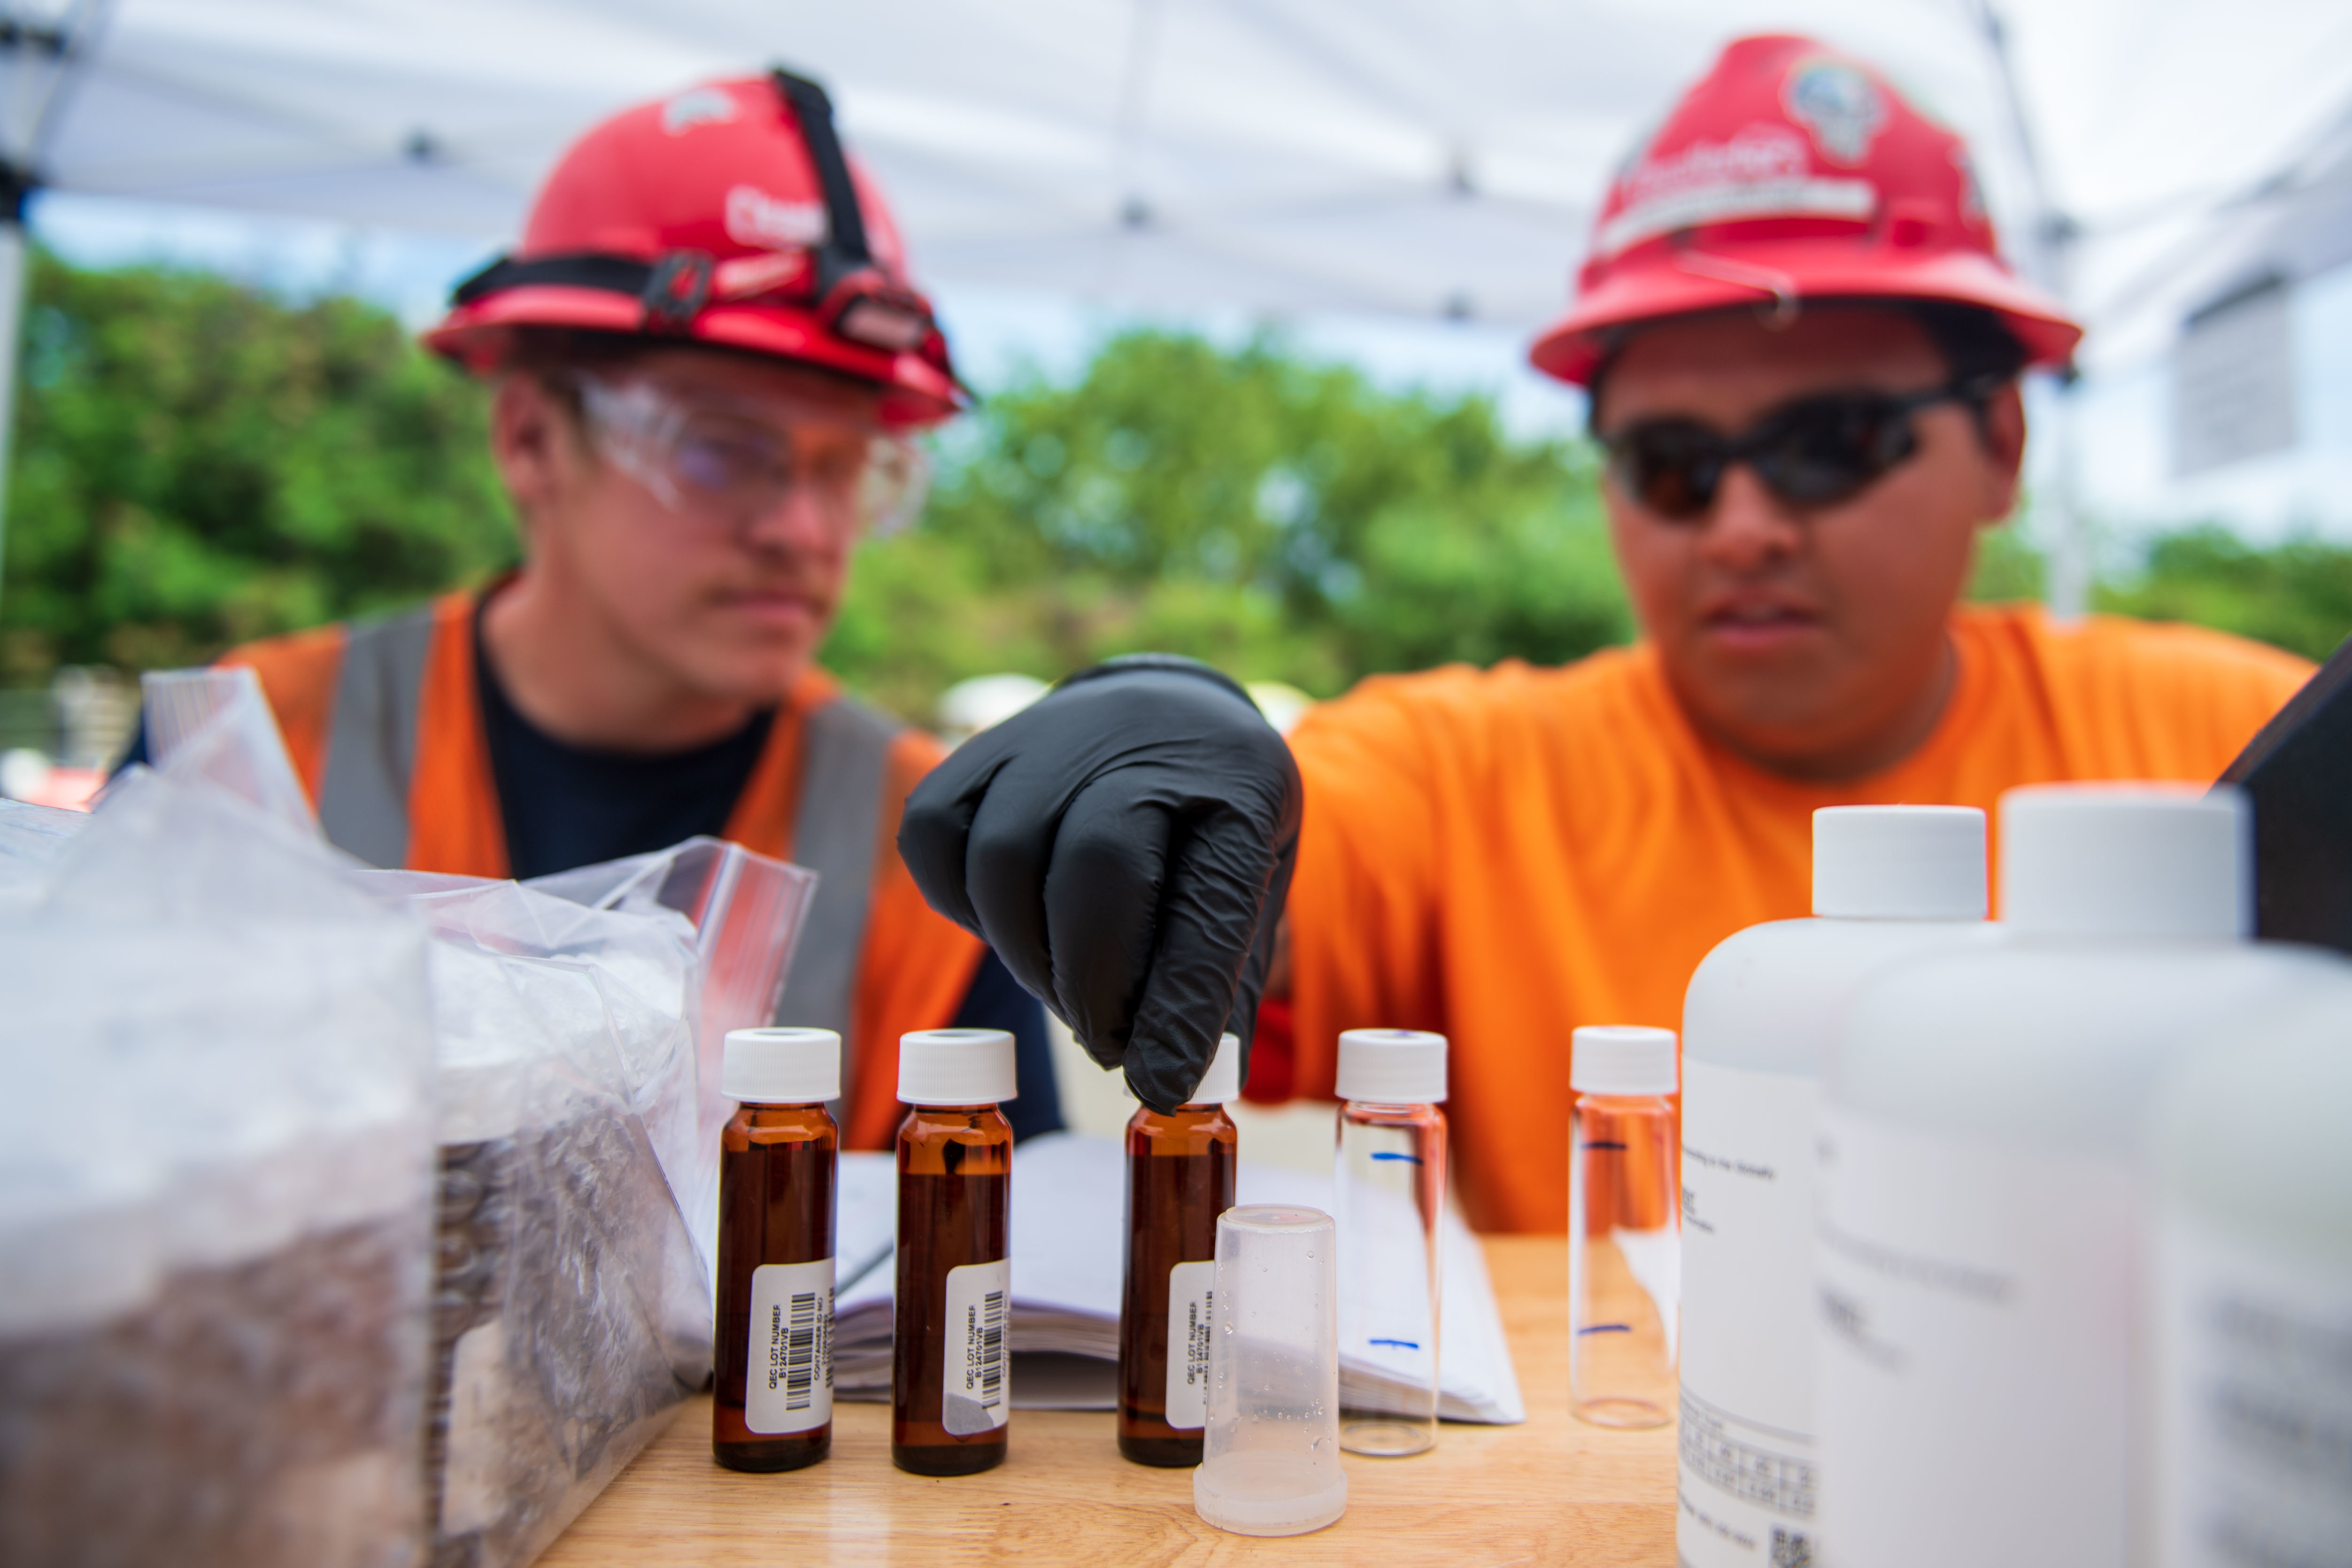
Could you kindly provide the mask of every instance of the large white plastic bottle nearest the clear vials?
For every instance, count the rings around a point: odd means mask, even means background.
[[[1813,813],[1813,919],[1750,926],[1682,1004],[1686,1568],[1776,1568],[1813,1540],[1813,1121],[1844,1009],[1905,957],[1987,943],[1985,813]]]

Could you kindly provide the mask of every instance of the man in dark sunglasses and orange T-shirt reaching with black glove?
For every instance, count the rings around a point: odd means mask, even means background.
[[[1341,1030],[1444,1032],[1470,1220],[1557,1232],[1569,1032],[1675,1023],[1710,947],[1809,914],[1818,806],[2211,780],[2310,672],[1959,604],[2018,371],[2079,336],[1957,136],[1811,40],[1733,42],[1534,348],[1590,390],[1635,646],[1374,677],[1289,745],[1202,665],[1103,665],[931,773],[906,860],[1150,1105],[1225,1027],[1254,1098],[1329,1095]]]

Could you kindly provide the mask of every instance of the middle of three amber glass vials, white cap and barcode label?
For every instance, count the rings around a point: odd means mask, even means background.
[[[898,1037],[898,1300],[889,1458],[917,1476],[1004,1462],[1011,1410],[1014,1037]]]

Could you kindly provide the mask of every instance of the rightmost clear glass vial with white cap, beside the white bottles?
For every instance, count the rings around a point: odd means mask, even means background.
[[[1675,1032],[1585,1025],[1573,1039],[1569,1408],[1595,1427],[1663,1427],[1682,1307]]]

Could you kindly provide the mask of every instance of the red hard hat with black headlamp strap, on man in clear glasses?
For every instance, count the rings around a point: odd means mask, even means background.
[[[804,78],[706,82],[604,120],[539,190],[522,244],[456,287],[426,331],[485,371],[510,327],[715,343],[882,388],[882,421],[964,407],[882,193]]]

